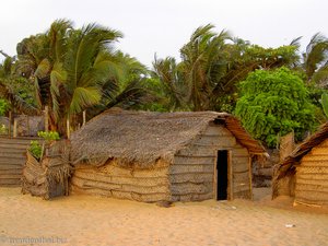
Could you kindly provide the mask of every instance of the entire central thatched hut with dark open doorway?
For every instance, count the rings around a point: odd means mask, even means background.
[[[251,199],[251,159],[266,153],[213,112],[112,109],[73,132],[71,148],[72,192],[144,202]]]

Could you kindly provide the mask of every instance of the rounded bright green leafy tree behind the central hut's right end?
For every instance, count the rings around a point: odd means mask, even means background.
[[[256,70],[241,82],[235,115],[244,127],[268,147],[291,131],[300,140],[314,128],[315,106],[302,79],[288,68]]]

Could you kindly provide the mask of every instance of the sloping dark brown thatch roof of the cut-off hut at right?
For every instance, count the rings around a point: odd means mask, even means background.
[[[288,157],[279,163],[274,168],[273,186],[278,180],[289,174],[293,174],[295,165],[298,164],[301,159],[306,155],[311,150],[328,139],[328,121],[324,124],[318,131],[307,138],[301,143]],[[273,187],[274,188],[274,187]]]

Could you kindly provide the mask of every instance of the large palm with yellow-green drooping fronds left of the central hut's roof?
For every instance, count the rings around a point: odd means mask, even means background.
[[[96,24],[73,30],[58,20],[46,34],[19,44],[17,71],[34,79],[39,109],[49,106],[51,129],[65,133],[66,119],[99,103],[115,68],[110,44],[121,36]]]

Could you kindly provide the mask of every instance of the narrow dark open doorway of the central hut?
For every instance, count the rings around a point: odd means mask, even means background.
[[[227,200],[227,151],[218,151],[216,200]]]

